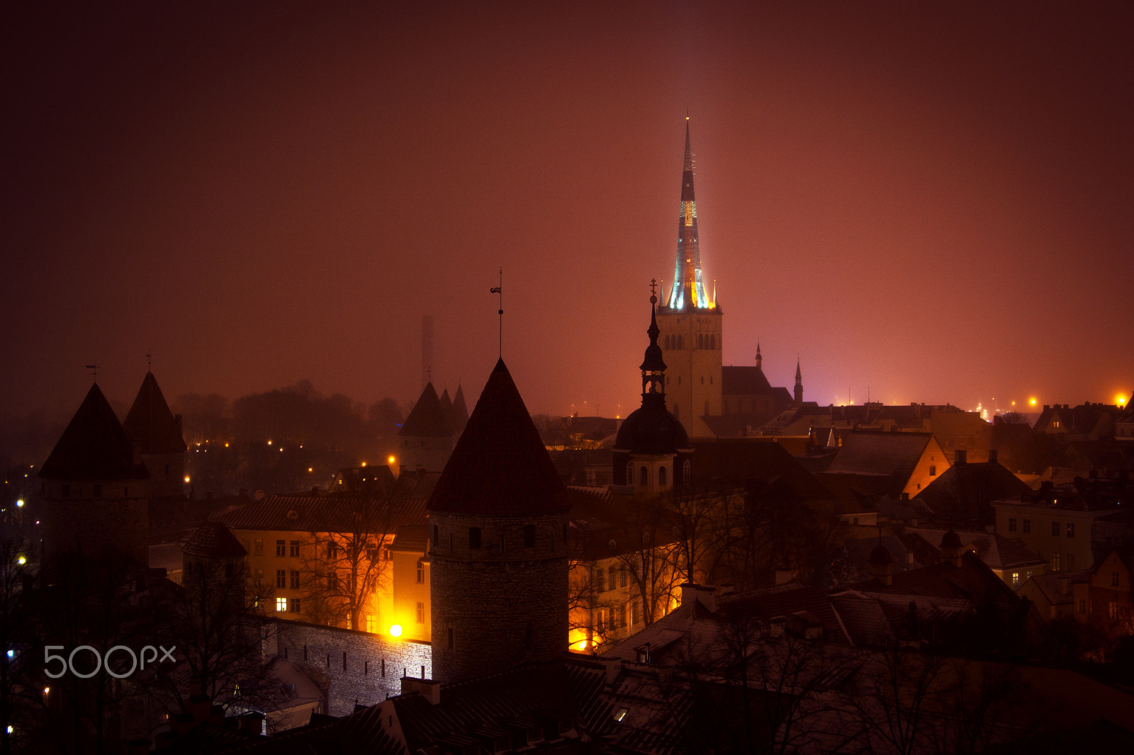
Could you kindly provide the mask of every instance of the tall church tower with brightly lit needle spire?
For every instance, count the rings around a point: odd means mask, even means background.
[[[677,214],[677,263],[669,297],[658,307],[661,346],[669,359],[670,412],[691,438],[713,433],[702,417],[721,414],[721,311],[717,291],[705,292],[693,196],[693,150],[685,119],[685,166]],[[665,291],[662,291],[665,298]]]

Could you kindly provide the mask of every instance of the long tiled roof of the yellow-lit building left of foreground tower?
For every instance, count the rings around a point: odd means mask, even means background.
[[[424,501],[365,495],[271,495],[221,515],[218,520],[232,529],[282,529],[294,532],[346,532],[361,516],[378,531],[392,533],[404,524],[425,521]],[[372,515],[372,516],[371,516]]]

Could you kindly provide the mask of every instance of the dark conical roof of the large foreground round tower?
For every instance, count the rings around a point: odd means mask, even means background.
[[[429,510],[530,516],[569,508],[567,491],[500,359],[433,489]]]

